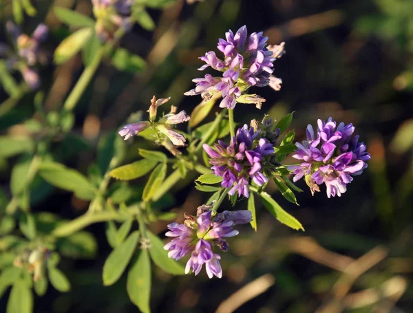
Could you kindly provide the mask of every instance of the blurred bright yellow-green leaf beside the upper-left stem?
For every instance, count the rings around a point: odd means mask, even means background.
[[[87,43],[93,32],[92,28],[81,28],[63,39],[60,45],[56,47],[56,50],[54,50],[54,63],[60,65],[72,58]]]

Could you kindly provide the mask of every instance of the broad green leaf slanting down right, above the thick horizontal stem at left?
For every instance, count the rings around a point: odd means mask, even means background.
[[[39,166],[39,175],[53,186],[73,191],[81,199],[91,200],[96,194],[96,188],[84,175],[74,169],[67,169],[63,164],[43,162]]]

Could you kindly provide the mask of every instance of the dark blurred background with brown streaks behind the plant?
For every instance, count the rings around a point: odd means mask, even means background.
[[[90,14],[92,6],[88,0],[33,3],[39,13],[25,19],[23,32],[31,34],[45,21],[50,36],[43,47],[52,60],[54,48],[70,33],[52,7]],[[1,11],[3,41],[4,21],[11,19],[7,3]],[[352,122],[372,155],[368,169],[342,197],[327,199],[324,186],[312,196],[299,182],[304,192],[297,195],[296,207],[270,184],[268,192],[306,232],[290,230],[257,208],[258,231],[245,226],[229,240],[222,279],[209,280],[204,272],[172,277],[155,268],[153,312],[413,312],[413,1],[204,0],[189,6],[179,0],[149,14],[156,29],[136,25],[120,43],[145,58],[146,69],[128,74],[105,61],[99,67],[75,111],[74,131],[88,144],[59,151],[67,166],[85,171],[96,158],[99,138],[118,129],[133,112],[146,111],[153,95],[171,96],[169,104],[191,112],[200,97],[183,93],[193,87],[193,78],[202,76],[198,56],[217,51],[218,38],[242,25],[249,32],[264,31],[270,44],[285,41],[286,54],[275,62],[281,91],[252,89],[266,98],[262,110],[237,105],[235,121],[248,123],[264,113],[280,118],[295,111],[290,128],[301,141],[306,125],[332,116]],[[46,111],[61,107],[82,69],[81,56],[41,69],[41,90],[48,91]],[[0,92],[3,101],[7,96]],[[1,133],[25,131],[21,123],[33,116],[33,102],[34,94],[26,94],[1,116]],[[149,144],[134,139],[125,163],[137,158],[137,147]],[[0,186],[7,191],[14,160],[0,161]],[[165,210],[191,214],[206,201],[208,195],[196,191],[191,178],[173,188]],[[134,186],[141,190],[140,183]],[[246,208],[246,202],[237,206]],[[39,199],[33,211],[73,219],[86,208],[72,194],[54,191]],[[162,235],[166,224],[158,222],[151,229]],[[87,230],[98,240],[96,257],[62,259],[72,290],[60,294],[49,288],[36,297],[35,312],[138,312],[128,299],[125,277],[103,286],[103,263],[112,250],[105,226]],[[0,299],[1,312],[8,294]]]

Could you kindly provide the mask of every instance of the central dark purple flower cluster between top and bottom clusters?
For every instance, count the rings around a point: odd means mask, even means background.
[[[258,138],[258,131],[247,125],[237,130],[230,144],[218,140],[213,148],[204,144],[204,150],[211,159],[209,163],[213,166],[213,172],[223,177],[222,186],[231,188],[229,195],[244,195],[248,197],[249,179],[258,186],[268,182],[268,178],[262,173],[262,162],[264,158],[273,155],[273,144],[266,138]]]

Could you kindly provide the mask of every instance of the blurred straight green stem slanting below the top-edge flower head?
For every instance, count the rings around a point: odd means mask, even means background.
[[[92,79],[92,77],[94,76],[96,69],[98,69],[100,61],[102,61],[104,52],[105,47],[100,47],[100,49],[96,52],[92,62],[83,70],[81,77],[79,78],[72,92],[66,99],[64,108],[67,111],[72,111],[72,109],[76,107],[78,100],[83,95],[83,92],[85,92],[85,89],[87,85],[89,85],[89,82]]]

